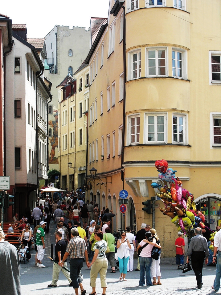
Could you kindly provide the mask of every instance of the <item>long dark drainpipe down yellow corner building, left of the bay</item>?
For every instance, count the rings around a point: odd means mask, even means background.
[[[123,164],[124,164],[124,142],[125,142],[125,109],[126,109],[126,18],[125,18],[125,6],[119,5],[124,10],[124,27],[123,27],[123,63],[124,63],[124,95],[123,95],[123,126],[122,126],[122,144],[121,144],[121,180],[123,182],[123,189],[124,189],[124,171]]]

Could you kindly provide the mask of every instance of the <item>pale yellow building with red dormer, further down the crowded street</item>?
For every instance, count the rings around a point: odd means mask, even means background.
[[[89,66],[82,64],[58,86],[58,149],[60,185],[76,190],[85,182]]]

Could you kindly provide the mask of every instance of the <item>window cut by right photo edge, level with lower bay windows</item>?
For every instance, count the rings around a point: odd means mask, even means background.
[[[221,147],[221,113],[210,113],[211,147]]]

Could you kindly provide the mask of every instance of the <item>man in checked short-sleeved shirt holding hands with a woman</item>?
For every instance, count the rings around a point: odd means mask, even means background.
[[[80,286],[80,294],[85,295],[86,290],[84,290],[82,285],[81,277],[79,276],[80,270],[83,266],[83,258],[85,257],[87,266],[89,265],[88,262],[88,252],[87,252],[87,246],[84,241],[84,239],[80,238],[78,236],[78,230],[77,228],[71,229],[71,240],[68,244],[66,253],[64,254],[64,257],[59,264],[60,266],[63,266],[64,261],[68,258],[70,255],[70,276],[73,284],[73,289],[75,289],[75,294],[78,295],[78,288]],[[88,266],[89,267],[89,266]]]

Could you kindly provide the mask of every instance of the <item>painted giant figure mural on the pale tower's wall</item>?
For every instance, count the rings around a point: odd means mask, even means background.
[[[58,148],[58,110],[54,111],[55,114],[53,115],[55,120],[48,121],[48,125],[53,128],[52,137],[49,137],[49,142],[51,144],[51,152],[49,157],[49,164],[58,164],[58,158],[55,157],[55,148]],[[49,148],[50,151],[50,148]]]

